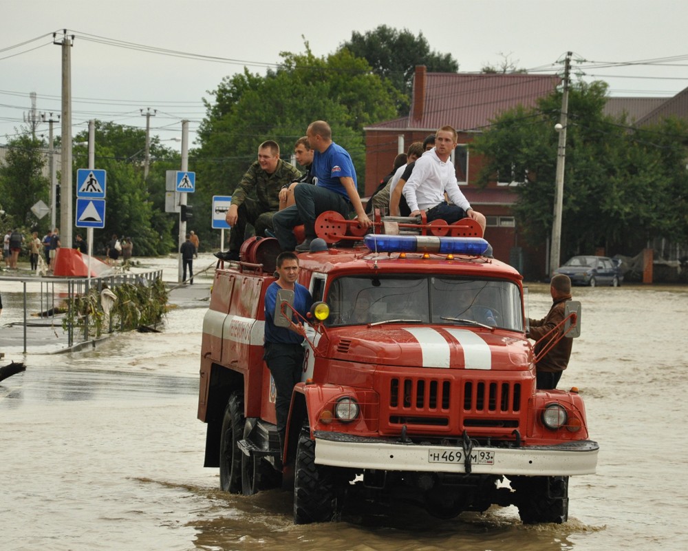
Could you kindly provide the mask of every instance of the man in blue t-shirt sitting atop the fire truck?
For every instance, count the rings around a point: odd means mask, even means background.
[[[332,141],[330,125],[325,121],[310,123],[306,136],[315,152],[311,167],[315,185],[297,185],[296,204],[272,217],[275,236],[283,251],[310,250],[310,242],[315,238],[315,219],[325,211],[337,211],[344,218],[355,211],[359,225],[365,228],[372,225],[358,197],[354,163],[346,149]],[[292,229],[299,224],[304,225],[305,240],[297,247]]]

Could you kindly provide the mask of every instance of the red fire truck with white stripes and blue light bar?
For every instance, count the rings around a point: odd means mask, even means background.
[[[263,360],[279,245],[251,238],[241,261],[218,262],[198,418],[222,490],[287,488],[295,523],[338,519],[356,495],[412,499],[444,519],[497,504],[524,523],[566,521],[568,479],[595,472],[598,445],[575,389],[535,388],[522,276],[486,255],[470,220],[376,212],[365,236],[355,224],[321,215],[330,247],[299,254],[314,305],[282,446]],[[292,315],[279,297],[275,320]],[[579,304],[565,322],[555,333],[576,336]]]

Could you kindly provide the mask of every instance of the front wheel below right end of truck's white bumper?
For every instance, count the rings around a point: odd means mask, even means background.
[[[511,488],[524,524],[568,520],[568,477],[514,477]]]

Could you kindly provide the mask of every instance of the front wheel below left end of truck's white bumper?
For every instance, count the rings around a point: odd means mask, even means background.
[[[338,520],[344,486],[336,484],[333,468],[315,464],[315,441],[308,428],[299,435],[294,470],[294,524]]]

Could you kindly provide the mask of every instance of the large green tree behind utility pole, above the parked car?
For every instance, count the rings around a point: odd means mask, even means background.
[[[629,253],[648,238],[685,236],[686,125],[632,131],[603,114],[607,85],[570,89],[562,216],[562,260],[605,247]],[[484,156],[479,183],[521,182],[515,216],[533,244],[550,236],[555,194],[561,92],[537,107],[500,115],[471,150]],[[511,176],[513,175],[513,177]]]

